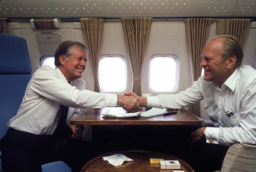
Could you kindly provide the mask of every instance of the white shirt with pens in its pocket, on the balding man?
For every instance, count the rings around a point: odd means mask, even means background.
[[[147,97],[147,108],[182,109],[204,99],[204,108],[215,127],[206,128],[206,142],[230,145],[256,144],[256,70],[241,66],[221,89],[201,76],[192,87],[177,95]],[[228,117],[225,112],[231,111]]]

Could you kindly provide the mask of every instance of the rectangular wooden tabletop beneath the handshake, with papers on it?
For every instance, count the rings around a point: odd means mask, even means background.
[[[168,112],[177,111],[177,114],[168,116],[159,115],[149,118],[133,117],[133,118],[111,118],[102,117],[105,110],[115,113],[126,113],[122,107],[104,107],[90,108],[80,115],[70,120],[71,125],[202,125],[201,118],[193,115],[185,109],[167,110]],[[140,107],[134,112],[145,111]]]

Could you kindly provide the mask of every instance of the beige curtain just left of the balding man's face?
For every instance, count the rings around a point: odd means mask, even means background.
[[[186,28],[186,38],[189,53],[189,62],[192,83],[197,80],[202,73],[201,53],[208,39],[212,18],[187,18],[184,20]],[[191,84],[192,84],[191,83]],[[193,104],[189,111],[196,116],[200,114],[200,103]]]

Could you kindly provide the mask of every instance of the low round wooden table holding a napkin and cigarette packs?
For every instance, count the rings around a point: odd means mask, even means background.
[[[102,159],[102,157],[115,154],[123,154],[133,161],[125,161],[122,165],[114,166]],[[168,154],[152,151],[119,151],[110,152],[93,158],[88,161],[81,172],[173,172],[170,169],[160,169],[158,164],[150,164],[150,158],[162,158],[164,160],[178,160],[184,172],[194,172],[194,170],[184,161]],[[175,169],[179,170],[179,169]]]

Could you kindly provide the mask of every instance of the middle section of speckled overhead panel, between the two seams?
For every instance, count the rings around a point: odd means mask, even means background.
[[[106,0],[105,16],[231,16],[237,0]]]

